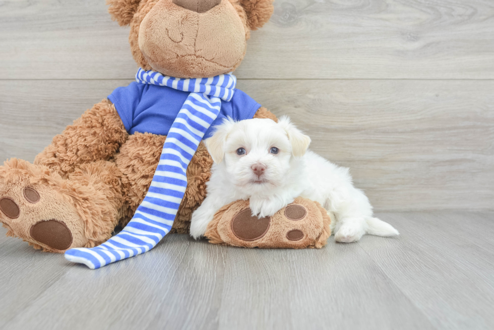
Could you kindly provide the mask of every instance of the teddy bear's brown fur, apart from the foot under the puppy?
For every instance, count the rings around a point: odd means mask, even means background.
[[[222,0],[210,11],[197,14],[172,0],[107,0],[112,19],[131,25],[129,42],[138,65],[180,78],[234,70],[245,54],[250,29],[269,19],[271,3]],[[266,108],[260,108],[255,117],[276,120]],[[15,219],[0,211],[0,222],[9,229],[9,236],[21,237],[45,251],[64,252],[30,236],[31,227],[40,221],[65,223],[72,235],[70,248],[101,244],[115,226],[129,222],[142,202],[165,138],[129,136],[115,106],[102,100],[55,136],[33,164],[11,159],[0,166],[0,201],[8,198],[20,210]],[[188,187],[172,232],[189,231],[192,212],[205,198],[211,165],[201,143],[187,170]],[[39,193],[39,202],[26,200],[26,187]]]

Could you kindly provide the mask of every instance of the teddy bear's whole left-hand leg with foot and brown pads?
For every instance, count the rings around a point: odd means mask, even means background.
[[[107,240],[122,217],[126,188],[109,161],[82,164],[65,179],[13,159],[0,167],[0,221],[35,248],[64,252]]]

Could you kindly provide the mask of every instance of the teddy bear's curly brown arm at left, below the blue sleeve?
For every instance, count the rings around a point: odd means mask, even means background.
[[[115,106],[104,99],[55,136],[36,156],[34,163],[66,176],[77,165],[109,160],[127,138],[128,133]]]

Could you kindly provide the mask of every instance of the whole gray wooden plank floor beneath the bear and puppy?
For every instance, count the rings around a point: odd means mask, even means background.
[[[169,235],[96,271],[2,229],[0,328],[494,328],[494,212],[378,216],[401,236],[262,250]]]

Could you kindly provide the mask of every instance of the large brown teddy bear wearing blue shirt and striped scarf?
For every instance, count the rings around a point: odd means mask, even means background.
[[[66,252],[69,260],[91,268],[144,253],[168,232],[189,231],[213,162],[202,139],[216,124],[226,117],[277,120],[235,89],[231,74],[245,55],[251,30],[271,17],[272,0],[107,4],[113,20],[130,25],[136,82],[88,109],[33,164],[14,158],[0,166],[0,221],[7,235],[36,249]],[[326,237],[327,221],[317,218],[323,234],[309,235],[307,246],[320,247],[316,241]],[[118,228],[128,230],[110,242]],[[212,242],[220,243],[221,231],[213,232]],[[95,246],[96,256],[78,250]]]

